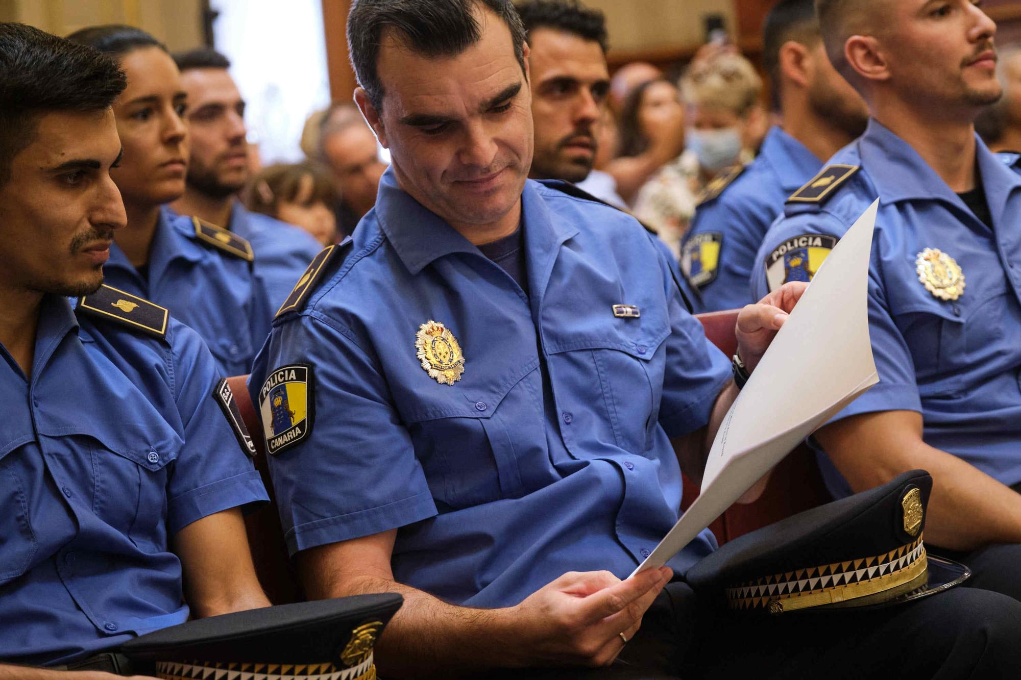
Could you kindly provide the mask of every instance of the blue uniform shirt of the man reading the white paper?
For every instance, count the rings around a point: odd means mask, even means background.
[[[676,522],[669,437],[707,425],[728,361],[632,217],[531,181],[523,205],[530,297],[387,171],[343,264],[275,323],[249,390],[270,445],[297,441],[270,458],[292,552],[399,528],[398,581],[503,606],[626,577]]]

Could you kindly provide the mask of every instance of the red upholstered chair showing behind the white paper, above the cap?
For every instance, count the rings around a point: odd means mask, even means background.
[[[737,351],[734,334],[737,310],[714,311],[695,318],[702,323],[706,337],[727,356],[733,356]],[[687,508],[697,495],[698,487],[685,478],[682,506]],[[710,529],[722,544],[830,500],[832,498],[816,465],[815,453],[801,444],[776,467],[759,500],[746,505],[731,505],[710,525]]]

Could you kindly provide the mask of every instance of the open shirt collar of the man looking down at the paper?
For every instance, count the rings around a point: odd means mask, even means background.
[[[540,191],[547,189],[529,180],[522,193],[523,224],[527,225],[525,247],[528,251],[529,285],[533,291],[545,288],[549,278],[548,264],[555,257],[556,248],[578,233],[576,228],[552,218],[549,208],[539,197]],[[374,209],[380,229],[412,276],[444,255],[481,255],[471,241],[404,192],[397,185],[392,167],[383,174]]]

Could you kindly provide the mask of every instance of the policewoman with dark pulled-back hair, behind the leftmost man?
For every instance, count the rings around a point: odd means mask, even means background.
[[[248,373],[273,315],[251,244],[163,207],[184,193],[188,166],[188,97],[174,59],[130,27],[83,29],[69,39],[115,57],[128,76],[113,104],[125,154],[112,173],[128,227],[110,251],[107,283],[169,308],[202,336],[225,375]]]

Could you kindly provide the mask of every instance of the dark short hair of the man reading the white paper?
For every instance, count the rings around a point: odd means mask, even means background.
[[[372,105],[383,110],[377,62],[384,31],[396,32],[419,54],[460,54],[482,38],[474,14],[480,5],[492,10],[510,30],[515,57],[524,72],[525,28],[510,0],[354,0],[347,15],[347,44],[358,85]]]

